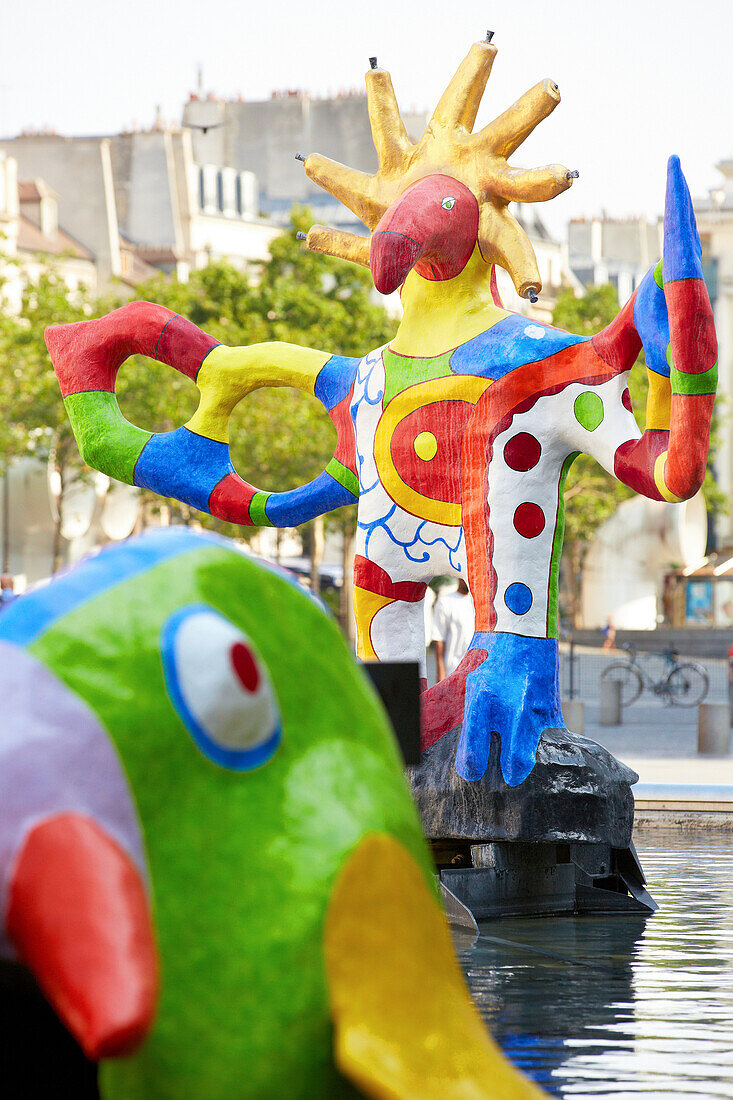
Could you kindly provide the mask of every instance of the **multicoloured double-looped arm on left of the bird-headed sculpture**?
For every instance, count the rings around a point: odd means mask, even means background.
[[[227,348],[147,301],[46,329],[46,344],[81,458],[110,477],[248,526],[296,526],[359,496],[348,409],[357,360],[280,342]],[[167,363],[196,383],[200,403],[188,424],[152,433],[125,420],[114,389],[120,366],[133,354]],[[308,485],[266,493],[231,463],[229,417],[260,386],[311,394],[336,427],[333,458]]]

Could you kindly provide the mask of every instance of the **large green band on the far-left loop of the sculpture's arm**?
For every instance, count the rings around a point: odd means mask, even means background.
[[[152,433],[125,420],[117,397],[106,389],[69,394],[64,405],[87,465],[134,485],[135,463]]]

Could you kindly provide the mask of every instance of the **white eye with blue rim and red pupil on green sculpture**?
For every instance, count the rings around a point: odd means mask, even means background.
[[[192,605],[165,622],[161,651],[171,701],[201,752],[240,771],[265,763],[282,725],[250,639],[218,612]]]

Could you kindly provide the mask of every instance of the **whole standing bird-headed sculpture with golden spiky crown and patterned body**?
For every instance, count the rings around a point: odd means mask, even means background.
[[[564,727],[557,580],[568,469],[587,452],[655,499],[694,494],[716,351],[676,157],[664,261],[608,329],[588,340],[502,307],[496,264],[525,297],[541,286],[508,204],[553,198],[577,173],[507,163],[559,102],[550,80],[471,132],[495,53],[490,42],[471,47],[416,145],[389,74],[372,58],[376,175],[305,158],[310,178],[372,231],[360,238],[315,226],[308,246],[369,264],[380,290],[402,288],[404,317],[387,346],[361,361],[278,343],[226,348],[146,302],[50,329],[47,342],[81,454],[105,473],[245,525],[296,525],[359,501],[354,605],[365,660],[423,659],[427,583],[468,573],[477,634],[452,676],[424,696],[424,746],[462,723],[456,768],[479,780],[497,734],[503,778],[516,785],[534,767],[543,732]],[[643,435],[626,386],[642,345]],[[185,427],[151,436],[123,419],[114,378],[132,352],[196,381],[200,405]],[[324,473],[289,493],[256,490],[229,459],[231,410],[263,385],[314,394],[338,432]]]

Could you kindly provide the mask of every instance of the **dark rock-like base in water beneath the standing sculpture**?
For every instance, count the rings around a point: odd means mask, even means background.
[[[656,909],[632,844],[637,774],[594,741],[546,729],[508,787],[492,738],[486,773],[453,767],[460,730],[407,769],[441,881],[478,920]]]

